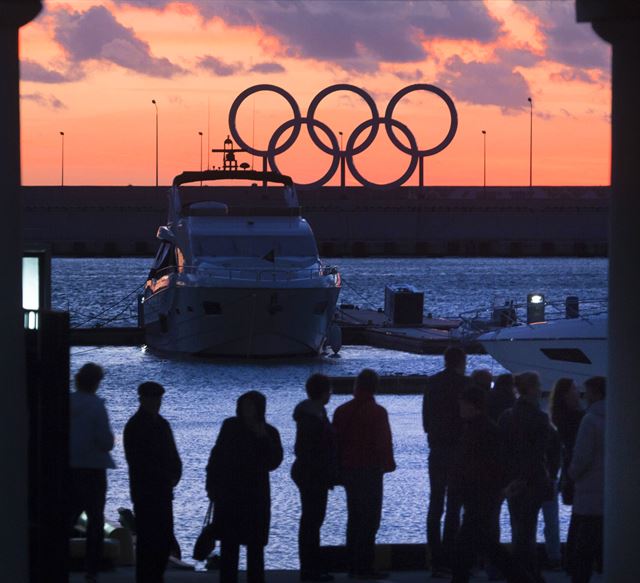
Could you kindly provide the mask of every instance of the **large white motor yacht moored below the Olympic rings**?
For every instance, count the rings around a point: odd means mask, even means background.
[[[192,189],[180,190],[210,180],[250,181],[256,189],[277,184],[282,204],[187,201]],[[212,191],[227,198],[232,192],[224,186]],[[160,248],[140,299],[150,348],[230,357],[322,350],[340,274],[320,260],[291,178],[245,170],[184,172],[173,181],[169,218],[157,237]]]

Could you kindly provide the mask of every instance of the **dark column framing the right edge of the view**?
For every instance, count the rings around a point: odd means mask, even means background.
[[[613,49],[605,576],[632,583],[640,581],[640,5],[578,0],[577,8]]]

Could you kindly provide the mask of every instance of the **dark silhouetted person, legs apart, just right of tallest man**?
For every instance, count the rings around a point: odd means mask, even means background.
[[[464,510],[456,537],[452,583],[468,583],[471,567],[480,553],[513,583],[532,581],[518,572],[509,553],[495,537],[495,516],[500,512],[505,487],[502,443],[498,426],[485,412],[486,389],[471,385],[459,399],[463,419],[460,450],[453,482]]]

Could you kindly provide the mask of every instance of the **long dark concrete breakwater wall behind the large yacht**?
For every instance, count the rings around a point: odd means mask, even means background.
[[[25,244],[57,256],[148,256],[168,187],[23,188]],[[187,187],[185,197],[269,206],[261,187]],[[325,257],[607,255],[610,188],[323,187],[299,192]]]

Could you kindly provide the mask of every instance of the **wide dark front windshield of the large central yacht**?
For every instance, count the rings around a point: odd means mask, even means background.
[[[196,257],[317,257],[313,237],[223,237],[205,236],[193,240]]]

